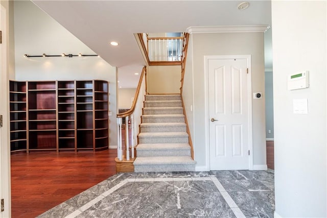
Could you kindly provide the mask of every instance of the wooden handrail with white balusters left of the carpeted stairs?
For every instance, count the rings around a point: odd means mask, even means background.
[[[137,146],[137,135],[139,133],[139,125],[141,124],[141,115],[143,102],[145,101],[145,95],[147,92],[147,81],[146,81],[146,66],[143,67],[142,74],[139,77],[138,85],[136,88],[134,101],[131,109],[124,113],[117,114],[117,158],[129,161],[135,158],[135,146]],[[125,119],[125,142],[123,151],[123,141],[122,141],[122,124],[123,119]],[[129,124],[131,126],[131,140],[129,135]],[[131,141],[131,144],[129,142]]]

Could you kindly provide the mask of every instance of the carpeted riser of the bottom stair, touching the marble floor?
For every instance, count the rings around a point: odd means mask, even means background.
[[[134,165],[134,172],[189,172],[195,165]]]

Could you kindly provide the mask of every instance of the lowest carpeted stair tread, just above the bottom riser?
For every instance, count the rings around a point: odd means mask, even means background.
[[[134,165],[194,165],[190,156],[136,157]]]

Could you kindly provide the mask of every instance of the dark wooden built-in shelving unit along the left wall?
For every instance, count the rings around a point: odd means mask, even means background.
[[[106,149],[108,131],[107,81],[10,81],[11,152]]]

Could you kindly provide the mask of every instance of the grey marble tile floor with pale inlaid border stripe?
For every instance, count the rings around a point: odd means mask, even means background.
[[[38,217],[273,217],[274,171],[119,173]]]

